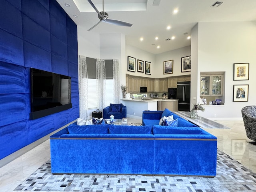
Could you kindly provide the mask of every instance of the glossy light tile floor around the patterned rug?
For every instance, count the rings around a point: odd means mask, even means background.
[[[129,119],[141,123],[141,120]],[[218,138],[218,149],[246,168],[256,172],[256,146],[249,144],[242,120],[218,121],[230,129],[205,129]],[[0,168],[0,192],[11,192],[42,164],[50,159],[50,141],[47,140]]]

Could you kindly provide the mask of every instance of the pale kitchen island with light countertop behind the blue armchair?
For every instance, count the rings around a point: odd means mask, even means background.
[[[143,98],[141,99],[121,99],[122,104],[126,106],[127,117],[142,118],[142,111],[150,110],[164,110],[168,108],[170,111],[178,111],[178,100],[177,99],[166,99],[162,98]]]

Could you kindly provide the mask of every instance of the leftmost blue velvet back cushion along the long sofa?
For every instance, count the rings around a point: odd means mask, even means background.
[[[69,134],[106,134],[108,131],[108,124],[106,125],[69,125]]]

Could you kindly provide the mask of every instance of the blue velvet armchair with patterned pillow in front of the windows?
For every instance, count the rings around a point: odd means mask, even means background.
[[[115,119],[122,119],[126,117],[126,106],[121,104],[111,104],[103,109],[103,118],[110,119],[110,116],[114,115]]]

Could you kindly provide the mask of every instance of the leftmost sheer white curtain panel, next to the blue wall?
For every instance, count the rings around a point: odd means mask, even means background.
[[[80,118],[88,119],[88,74],[86,57],[79,55],[78,65],[78,80],[79,80],[79,116]]]

